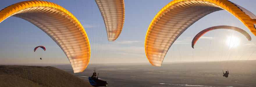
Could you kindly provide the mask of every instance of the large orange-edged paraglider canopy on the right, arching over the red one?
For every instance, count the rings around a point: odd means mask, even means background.
[[[173,0],[151,21],[145,37],[145,54],[153,66],[161,66],[175,40],[193,23],[207,14],[226,10],[256,35],[256,16],[228,0]]]

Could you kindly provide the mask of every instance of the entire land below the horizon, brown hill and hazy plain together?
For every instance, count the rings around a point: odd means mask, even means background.
[[[0,65],[1,87],[72,87],[77,84],[76,76],[82,86],[90,86],[93,65],[82,73],[73,73],[70,64],[42,66]],[[229,69],[228,78],[222,76],[222,69]],[[98,71],[108,87],[256,87],[256,60],[165,63],[162,67],[149,63],[104,64]]]

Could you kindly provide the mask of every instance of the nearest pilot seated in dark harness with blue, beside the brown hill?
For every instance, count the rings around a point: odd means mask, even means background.
[[[91,77],[88,77],[89,82],[92,86],[99,87],[99,86],[107,86],[108,85],[107,81],[99,80],[98,77],[96,77],[96,76],[97,76],[97,73],[94,70],[93,75]]]

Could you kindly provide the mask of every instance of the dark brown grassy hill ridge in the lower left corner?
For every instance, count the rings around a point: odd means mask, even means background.
[[[51,66],[0,65],[1,87],[93,87],[89,82]]]

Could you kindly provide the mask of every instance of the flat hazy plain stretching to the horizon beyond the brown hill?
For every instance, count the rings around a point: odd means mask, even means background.
[[[221,64],[223,69],[232,68],[228,78],[222,76]],[[73,73],[70,65],[56,67],[75,76],[87,76],[80,77],[85,81],[93,73],[91,65],[82,73]],[[188,62],[162,67],[149,63],[105,64],[99,78],[108,81],[108,87],[256,87],[256,61]]]

